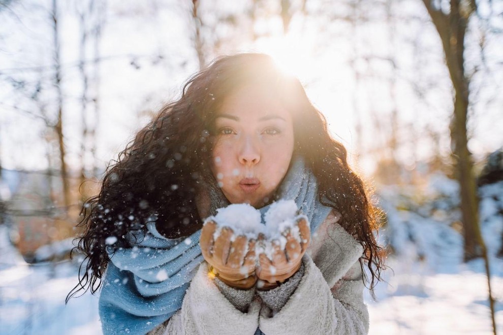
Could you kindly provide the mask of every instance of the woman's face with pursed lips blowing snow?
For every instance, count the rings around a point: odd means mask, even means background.
[[[217,111],[212,172],[232,204],[267,204],[294,149],[292,116],[267,89],[245,86]]]

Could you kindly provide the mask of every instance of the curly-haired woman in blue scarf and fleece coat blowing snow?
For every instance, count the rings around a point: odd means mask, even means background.
[[[308,220],[272,260],[260,241],[203,226],[229,204],[265,213],[278,199]],[[191,78],[83,212],[76,289],[102,286],[105,333],[368,332],[363,269],[372,289],[384,257],[373,208],[300,82],[267,55],[222,57]]]

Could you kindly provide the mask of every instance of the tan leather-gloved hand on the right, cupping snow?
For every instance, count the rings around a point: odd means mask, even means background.
[[[281,248],[278,240],[271,241],[273,247],[272,260],[265,253],[260,253],[259,265],[256,270],[259,278],[257,283],[259,289],[274,288],[299,270],[302,256],[309,246],[311,232],[309,224],[304,218],[297,221],[297,225],[299,227],[300,241],[293,235],[292,231],[287,230],[283,233],[283,236],[287,239],[284,249]],[[258,243],[264,243],[264,241],[259,238]]]

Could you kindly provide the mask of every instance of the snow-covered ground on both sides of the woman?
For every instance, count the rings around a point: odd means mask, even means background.
[[[462,239],[449,224],[459,215],[452,210],[455,191],[455,184],[438,177],[421,193],[429,201],[404,189],[380,193],[389,220],[381,239],[395,253],[388,259],[387,283],[375,289],[377,301],[365,294],[371,334],[492,333],[484,263],[462,263]],[[495,257],[503,230],[503,182],[484,186],[481,197],[496,324],[503,334],[503,260]],[[406,204],[412,198],[416,208]],[[0,333],[101,333],[97,297],[86,293],[65,306],[77,270],[68,261],[27,265],[10,245],[6,227],[0,226]]]

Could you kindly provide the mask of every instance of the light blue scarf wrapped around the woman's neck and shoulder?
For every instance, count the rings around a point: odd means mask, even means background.
[[[319,202],[317,191],[316,178],[303,158],[294,158],[278,198],[295,200],[309,219],[311,232],[331,210]],[[260,209],[262,216],[268,207]],[[104,334],[144,334],[181,308],[185,291],[204,260],[200,235],[198,230],[188,238],[169,240],[154,223],[147,224],[146,233],[129,232],[128,239],[139,243],[115,250],[103,280],[99,311]]]

